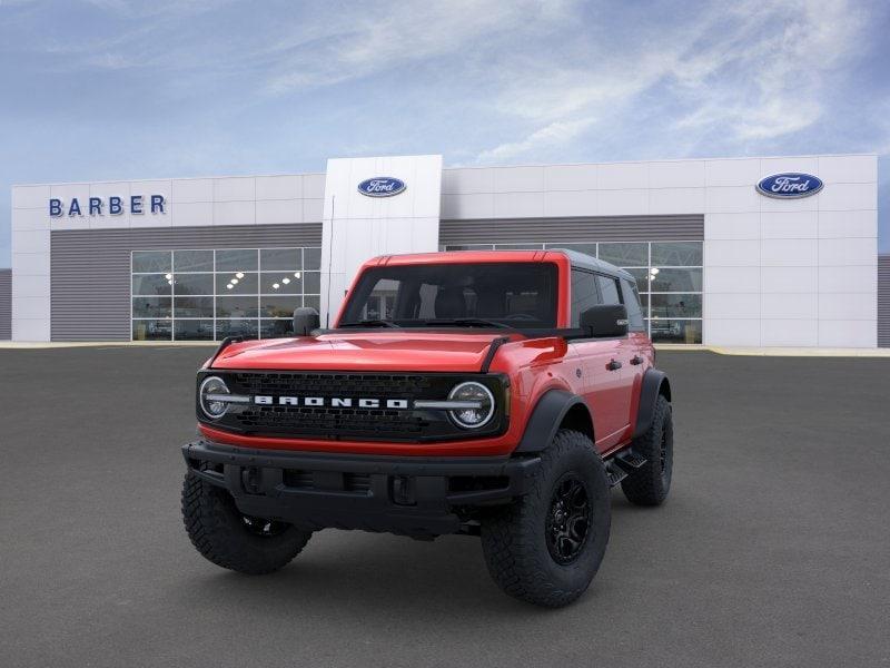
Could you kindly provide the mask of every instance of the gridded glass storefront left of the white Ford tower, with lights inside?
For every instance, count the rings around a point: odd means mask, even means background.
[[[286,336],[295,308],[320,307],[317,247],[134,250],[131,262],[134,341]]]

